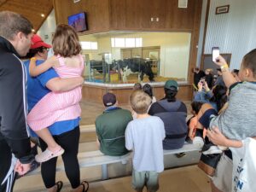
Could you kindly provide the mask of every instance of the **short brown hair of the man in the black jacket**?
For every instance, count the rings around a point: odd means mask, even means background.
[[[32,32],[32,23],[24,16],[11,11],[0,12],[0,36],[14,40],[15,34],[23,32],[28,35]]]

